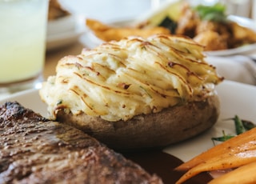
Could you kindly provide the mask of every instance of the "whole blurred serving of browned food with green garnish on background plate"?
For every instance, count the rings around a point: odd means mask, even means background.
[[[234,22],[226,14],[222,4],[214,6],[190,6],[188,3],[174,3],[166,6],[171,12],[162,10],[134,27],[106,25],[95,20],[87,20],[87,26],[103,41],[120,40],[129,35],[148,36],[152,33],[178,34],[193,38],[205,51],[228,50],[256,42],[256,32],[249,27]],[[178,9],[178,10],[177,10]],[[162,14],[166,17],[162,18]],[[160,16],[161,15],[161,16]],[[159,18],[159,16],[162,18]],[[155,20],[157,19],[157,21]],[[168,31],[169,30],[169,31]]]

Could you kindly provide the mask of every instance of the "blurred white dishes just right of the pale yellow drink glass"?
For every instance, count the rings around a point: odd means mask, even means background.
[[[70,15],[48,22],[46,50],[54,50],[77,42],[85,32],[85,18],[80,15]]]

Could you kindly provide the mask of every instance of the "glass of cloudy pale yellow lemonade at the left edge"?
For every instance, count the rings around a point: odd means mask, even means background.
[[[0,98],[40,87],[48,3],[49,0],[0,0]]]

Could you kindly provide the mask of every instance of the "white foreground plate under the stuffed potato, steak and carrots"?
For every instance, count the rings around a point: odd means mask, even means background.
[[[234,122],[223,121],[223,119],[234,118],[235,114],[240,118],[256,123],[255,86],[225,81],[218,85],[217,90],[221,101],[221,114],[214,127],[195,138],[190,138],[190,140],[185,142],[166,147],[164,150],[166,153],[172,154],[186,162],[197,154],[208,150],[210,147],[214,146],[211,138],[222,136],[222,130],[225,130],[226,134],[234,134]],[[6,101],[17,101],[21,103],[22,106],[30,108],[42,114],[42,116],[47,117],[46,104],[39,98],[38,90],[27,90],[19,94],[14,94],[10,98],[1,100],[0,103],[2,104]]]

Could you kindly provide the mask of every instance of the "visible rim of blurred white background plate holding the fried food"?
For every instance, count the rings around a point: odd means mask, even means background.
[[[234,22],[237,22],[238,24],[248,27],[251,30],[256,31],[256,23],[250,19],[250,18],[243,18],[235,15],[228,16],[228,19]],[[123,21],[114,21],[114,22],[108,22],[108,24],[113,26],[130,26],[134,20],[123,20]],[[92,31],[88,31],[88,34],[85,34],[82,38],[82,42],[86,44],[86,46],[89,46],[90,48],[94,48],[95,46],[100,45],[103,41],[99,38],[97,38]],[[250,53],[252,51],[256,50],[256,43],[246,45],[246,46],[240,46],[238,48],[230,49],[230,50],[216,50],[216,51],[207,51],[205,52],[206,55],[209,56],[229,56],[234,54],[246,54]]]

